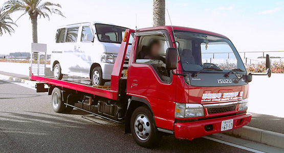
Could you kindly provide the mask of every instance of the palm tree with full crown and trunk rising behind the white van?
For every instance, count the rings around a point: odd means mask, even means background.
[[[64,17],[61,11],[56,8],[61,8],[59,4],[53,4],[50,2],[42,2],[42,0],[9,0],[4,3],[4,8],[8,10],[9,13],[16,11],[24,11],[21,15],[29,14],[32,21],[32,36],[33,42],[37,43],[37,17],[49,18],[49,14],[59,14]],[[55,7],[55,8],[52,8]],[[20,17],[21,17],[20,16]],[[20,18],[19,17],[19,18]],[[19,19],[18,18],[18,19]]]

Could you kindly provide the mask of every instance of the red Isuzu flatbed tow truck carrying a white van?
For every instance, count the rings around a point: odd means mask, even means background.
[[[153,40],[162,45],[160,59],[145,58]],[[267,70],[270,77],[268,55]],[[143,147],[157,145],[165,134],[192,140],[237,129],[251,120],[247,108],[252,74],[227,37],[198,29],[126,30],[110,86],[33,74],[30,80],[39,81],[37,92],[52,95],[55,112],[76,108],[124,123],[125,134],[132,133]]]

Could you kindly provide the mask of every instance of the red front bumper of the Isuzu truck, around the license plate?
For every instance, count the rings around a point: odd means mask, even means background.
[[[244,125],[247,125],[251,120],[251,114],[239,114],[228,117],[207,119],[194,122],[184,122],[184,123],[174,123],[174,136],[177,139],[188,139],[192,140],[194,138],[200,138],[206,135],[221,132],[221,122],[222,120],[234,119],[233,129],[237,129]],[[210,131],[205,130],[205,125],[212,124],[213,129]],[[223,131],[222,131],[223,132]]]

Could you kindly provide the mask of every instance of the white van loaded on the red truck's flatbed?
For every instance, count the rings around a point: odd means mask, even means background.
[[[95,86],[104,85],[105,81],[111,80],[113,66],[126,29],[99,22],[59,27],[51,54],[54,78],[61,80],[63,74],[68,74],[90,78],[92,85]],[[130,44],[128,55],[129,52]]]

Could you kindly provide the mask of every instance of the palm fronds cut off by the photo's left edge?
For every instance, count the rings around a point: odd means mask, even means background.
[[[4,12],[3,8],[0,8],[0,36],[2,36],[3,33],[8,33],[11,35],[11,33],[14,32],[14,29],[11,25],[16,24],[10,18],[9,13]]]

